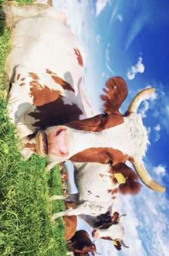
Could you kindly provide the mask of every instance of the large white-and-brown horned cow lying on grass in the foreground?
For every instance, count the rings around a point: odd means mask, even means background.
[[[121,114],[126,82],[111,78],[101,96],[104,114],[93,116],[82,86],[82,51],[64,13],[46,4],[6,4],[4,12],[13,45],[5,64],[9,115],[17,124],[23,155],[47,156],[47,170],[65,160],[112,165],[129,160],[143,183],[164,192],[144,167],[149,142],[137,114],[141,101],[155,90],[138,93]]]

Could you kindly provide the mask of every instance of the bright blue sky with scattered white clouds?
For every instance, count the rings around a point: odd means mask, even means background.
[[[125,243],[117,252],[105,241],[98,251],[112,255],[169,255],[169,2],[167,0],[53,0],[67,13],[68,26],[79,38],[85,63],[84,87],[92,108],[101,113],[99,95],[109,77],[128,85],[124,113],[133,96],[146,87],[156,92],[139,107],[150,146],[144,157],[149,174],[166,186],[164,194],[142,186],[135,197],[121,196]]]

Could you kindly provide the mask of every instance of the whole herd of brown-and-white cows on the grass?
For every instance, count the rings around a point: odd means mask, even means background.
[[[120,77],[110,78],[101,95],[103,113],[95,115],[83,88],[80,45],[65,14],[51,1],[36,2],[4,5],[13,46],[5,63],[10,80],[8,112],[17,126],[21,153],[26,158],[33,153],[46,156],[46,171],[67,160],[74,163],[78,194],[51,198],[65,199],[67,210],[51,220],[64,216],[71,252],[96,252],[89,234],[76,232],[77,216],[93,228],[94,240],[112,240],[121,250],[121,245],[128,246],[123,241],[122,216],[115,209],[118,193],[136,195],[141,189],[138,177],[149,188],[165,191],[145,169],[142,157],[149,140],[137,114],[140,103],[155,89],[139,92],[122,114],[127,85]]]

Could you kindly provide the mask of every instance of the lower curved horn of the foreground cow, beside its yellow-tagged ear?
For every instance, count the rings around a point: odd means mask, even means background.
[[[138,177],[141,179],[141,181],[148,186],[150,189],[159,191],[159,192],[165,192],[164,186],[158,184],[157,182],[153,181],[151,176],[148,174],[148,171],[146,171],[144,167],[144,163],[142,161],[132,161],[134,168],[137,172]]]

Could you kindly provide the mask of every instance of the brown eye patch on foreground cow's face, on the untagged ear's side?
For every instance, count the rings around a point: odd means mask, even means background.
[[[76,130],[86,130],[92,132],[101,132],[124,122],[124,117],[119,113],[112,113],[106,117],[96,115],[84,120],[76,120],[67,124],[68,127]]]

